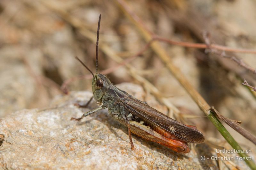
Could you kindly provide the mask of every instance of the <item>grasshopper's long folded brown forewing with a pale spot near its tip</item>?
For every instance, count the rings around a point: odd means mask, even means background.
[[[204,135],[198,130],[164,115],[131,95],[129,95],[129,99],[123,100],[122,104],[133,115],[140,117],[148,126],[166,137],[175,135],[177,139],[189,143],[204,142]]]

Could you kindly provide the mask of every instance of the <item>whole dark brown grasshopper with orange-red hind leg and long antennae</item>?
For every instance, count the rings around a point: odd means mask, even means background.
[[[188,153],[188,143],[203,143],[204,135],[196,129],[195,126],[184,125],[156,109],[148,106],[129,95],[127,92],[118,89],[103,74],[98,73],[98,47],[100,18],[98,23],[97,41],[96,41],[96,74],[78,58],[76,59],[92,74],[92,92],[94,100],[100,104],[100,107],[85,113],[80,118],[71,118],[79,121],[83,117],[96,113],[102,109],[108,108],[109,114],[118,122],[128,128],[128,134],[132,150],[134,145],[131,133],[164,145],[175,152]],[[87,102],[87,106],[92,98]]]

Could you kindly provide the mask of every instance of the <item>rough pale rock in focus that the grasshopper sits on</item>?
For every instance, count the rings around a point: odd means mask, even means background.
[[[144,92],[139,85],[126,83],[119,87],[143,100]],[[93,101],[85,109],[74,105],[86,103],[91,96],[91,92],[71,92],[57,96],[48,108],[25,109],[3,118],[0,122],[0,168],[217,168],[216,161],[200,159],[202,155],[212,156],[211,148],[206,144],[192,145],[188,154],[178,154],[132,135],[136,149],[131,150],[127,129],[109,117],[107,110],[87,116],[80,122],[71,121],[71,117],[80,117],[97,107]]]

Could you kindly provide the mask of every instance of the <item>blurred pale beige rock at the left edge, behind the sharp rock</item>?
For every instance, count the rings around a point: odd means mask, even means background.
[[[28,107],[34,98],[36,84],[26,68],[17,61],[14,48],[0,49],[0,117]]]

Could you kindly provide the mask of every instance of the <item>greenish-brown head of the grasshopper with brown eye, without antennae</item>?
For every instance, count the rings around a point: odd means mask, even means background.
[[[103,74],[95,74],[92,79],[92,93],[96,101],[101,101],[102,96],[111,84],[110,80]]]

